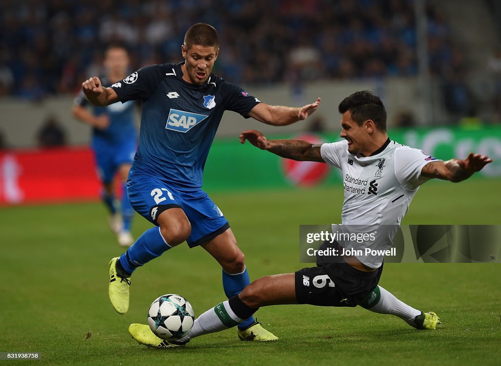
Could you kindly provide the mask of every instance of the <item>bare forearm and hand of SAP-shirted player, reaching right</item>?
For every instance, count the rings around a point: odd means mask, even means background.
[[[308,118],[320,105],[320,98],[315,103],[301,108],[270,106],[260,103],[250,110],[249,116],[272,126],[287,126]]]

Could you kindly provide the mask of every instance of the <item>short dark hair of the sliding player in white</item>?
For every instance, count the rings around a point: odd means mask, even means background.
[[[383,102],[368,90],[355,92],[343,99],[339,103],[338,111],[341,114],[350,111],[351,118],[359,126],[362,126],[364,121],[373,120],[378,130],[386,131],[386,109]]]

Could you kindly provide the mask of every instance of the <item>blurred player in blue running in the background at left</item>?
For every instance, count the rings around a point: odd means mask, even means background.
[[[130,72],[127,50],[119,45],[109,46],[105,52],[104,67],[103,85],[111,86],[123,80]],[[134,242],[130,232],[134,210],[127,197],[126,182],[137,146],[134,102],[96,106],[92,112],[86,108],[89,104],[81,92],[75,99],[73,116],[92,126],[92,149],[103,183],[101,198],[109,212],[109,225],[117,234],[120,245],[131,246]],[[114,178],[117,172],[123,184],[120,205],[115,199]]]

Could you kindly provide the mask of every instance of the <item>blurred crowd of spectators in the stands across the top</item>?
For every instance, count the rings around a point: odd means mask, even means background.
[[[441,73],[455,55],[450,31],[439,12],[427,14],[430,68]],[[417,73],[405,0],[4,0],[0,93],[74,92],[100,73],[110,42],[130,48],[135,68],[179,62],[197,22],[219,32],[214,71],[243,85]]]

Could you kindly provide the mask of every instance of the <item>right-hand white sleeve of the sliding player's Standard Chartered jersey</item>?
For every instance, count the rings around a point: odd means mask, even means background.
[[[421,174],[423,167],[438,160],[422,150],[403,146],[395,151],[395,176],[405,189],[416,190],[429,179]]]

